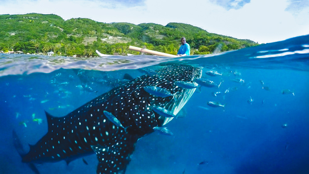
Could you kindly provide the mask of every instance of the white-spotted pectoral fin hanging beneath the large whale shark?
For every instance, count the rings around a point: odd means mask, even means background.
[[[137,139],[132,141],[122,138],[121,140],[110,146],[91,146],[99,160],[97,174],[125,173],[127,165],[132,159]]]

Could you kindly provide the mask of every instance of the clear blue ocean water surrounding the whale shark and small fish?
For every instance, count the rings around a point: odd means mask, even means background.
[[[0,173],[33,173],[13,146],[13,129],[28,151],[47,133],[44,110],[64,116],[121,85],[125,74],[136,78],[145,74],[140,68],[170,64],[204,67],[202,78],[222,84],[195,91],[165,125],[174,136],[154,132],[138,140],[126,174],[309,173],[309,35],[180,58],[0,54]],[[209,70],[222,76],[206,75]],[[84,159],[88,165],[80,158],[36,167],[41,173],[95,173],[96,156]]]

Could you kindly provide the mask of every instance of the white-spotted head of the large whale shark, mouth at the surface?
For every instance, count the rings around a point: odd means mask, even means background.
[[[109,108],[123,126],[129,127],[132,134],[143,136],[153,132],[153,127],[163,126],[173,118],[164,117],[152,110],[152,106],[159,106],[177,115],[195,91],[178,87],[176,81],[193,82],[201,78],[202,68],[192,65],[169,65],[155,71],[154,75],[142,75],[123,84],[118,89],[112,103],[118,103]],[[144,90],[144,87],[155,86],[167,90],[171,96],[160,97]],[[120,94],[125,94],[124,96]],[[120,99],[118,99],[120,98]],[[122,102],[121,102],[122,100]],[[121,104],[121,106],[119,106]],[[124,109],[119,109],[119,107]]]

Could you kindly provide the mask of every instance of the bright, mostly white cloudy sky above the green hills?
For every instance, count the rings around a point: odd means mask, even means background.
[[[180,22],[258,43],[309,34],[309,0],[0,0],[0,14],[27,13],[136,25]]]

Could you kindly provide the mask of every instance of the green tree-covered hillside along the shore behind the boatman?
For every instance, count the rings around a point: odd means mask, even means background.
[[[154,23],[103,23],[87,18],[63,20],[54,14],[0,15],[0,51],[43,53],[78,57],[138,52],[129,45],[176,55],[180,38],[186,37],[191,54],[210,54],[258,45],[247,39],[236,39],[183,23],[162,26]]]

